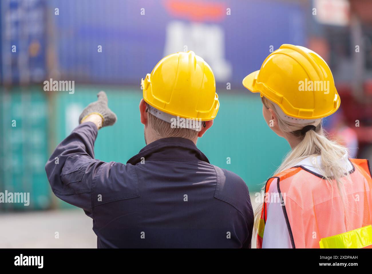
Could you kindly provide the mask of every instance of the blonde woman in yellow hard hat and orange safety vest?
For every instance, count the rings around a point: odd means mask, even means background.
[[[263,117],[291,146],[264,186],[258,248],[371,248],[368,160],[349,159],[322,118],[340,106],[330,68],[314,51],[284,44],[243,85],[259,92]]]

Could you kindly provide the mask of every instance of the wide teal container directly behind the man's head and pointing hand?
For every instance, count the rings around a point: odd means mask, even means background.
[[[108,94],[109,107],[117,114],[118,121],[99,130],[95,157],[126,163],[145,146],[138,110],[141,89],[76,85],[74,94],[55,93],[55,145],[78,125],[81,110],[96,100],[100,90]],[[259,190],[260,184],[279,166],[289,146],[266,125],[259,96],[220,92],[219,100],[221,106],[214,125],[199,138],[198,148],[212,164],[241,176],[251,191]]]

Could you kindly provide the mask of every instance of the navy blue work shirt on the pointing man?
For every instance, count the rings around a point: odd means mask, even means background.
[[[93,218],[98,248],[250,248],[253,211],[239,176],[184,138],[106,163],[94,159],[97,131],[76,127],[45,170],[54,194]]]

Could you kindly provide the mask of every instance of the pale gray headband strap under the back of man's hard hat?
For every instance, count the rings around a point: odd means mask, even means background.
[[[182,118],[174,116],[164,111],[160,111],[154,108],[152,105],[147,104],[146,112],[153,114],[155,117],[163,120],[164,122],[170,123],[173,128],[188,128],[195,131],[200,131],[202,126],[206,126],[205,122],[198,119]]]

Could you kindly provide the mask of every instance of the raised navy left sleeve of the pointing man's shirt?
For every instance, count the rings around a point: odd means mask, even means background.
[[[54,194],[69,204],[83,208],[90,217],[92,184],[97,171],[105,164],[94,159],[97,132],[94,123],[82,123],[57,146],[45,165]]]

